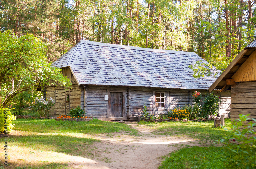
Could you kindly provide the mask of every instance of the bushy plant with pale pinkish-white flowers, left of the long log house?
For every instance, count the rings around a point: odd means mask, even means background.
[[[31,111],[34,112],[34,115],[46,117],[49,114],[50,108],[54,106],[54,99],[46,98],[36,98],[34,105],[31,107]]]

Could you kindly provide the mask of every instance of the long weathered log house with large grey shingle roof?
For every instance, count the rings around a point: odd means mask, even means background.
[[[207,63],[192,52],[148,49],[81,40],[53,63],[70,78],[72,89],[45,88],[56,100],[52,115],[67,115],[76,106],[101,120],[137,120],[144,97],[150,114],[193,104],[192,93],[205,95],[215,77],[194,78],[188,67]],[[230,92],[217,94],[220,114],[229,116]]]

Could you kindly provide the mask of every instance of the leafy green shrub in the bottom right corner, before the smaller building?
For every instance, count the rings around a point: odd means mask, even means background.
[[[233,122],[232,130],[227,131],[228,136],[219,140],[219,143],[224,144],[224,150],[227,152],[224,158],[227,169],[256,168],[256,132],[253,129],[256,120],[247,118],[249,115],[239,115],[240,119]],[[255,122],[248,123],[248,120]],[[230,143],[230,140],[235,143]]]

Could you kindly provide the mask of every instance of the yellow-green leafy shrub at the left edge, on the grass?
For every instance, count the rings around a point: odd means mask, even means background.
[[[7,110],[6,113],[4,110]],[[5,129],[7,129],[7,133],[9,133],[14,128],[12,121],[16,120],[16,116],[14,116],[10,111],[11,109],[0,106],[0,133],[5,133]],[[7,128],[5,125],[7,125]]]

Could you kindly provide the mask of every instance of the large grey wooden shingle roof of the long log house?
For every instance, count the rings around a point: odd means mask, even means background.
[[[81,40],[53,63],[71,67],[81,85],[208,89],[214,77],[194,78],[188,67],[207,63],[193,52],[148,49]]]

